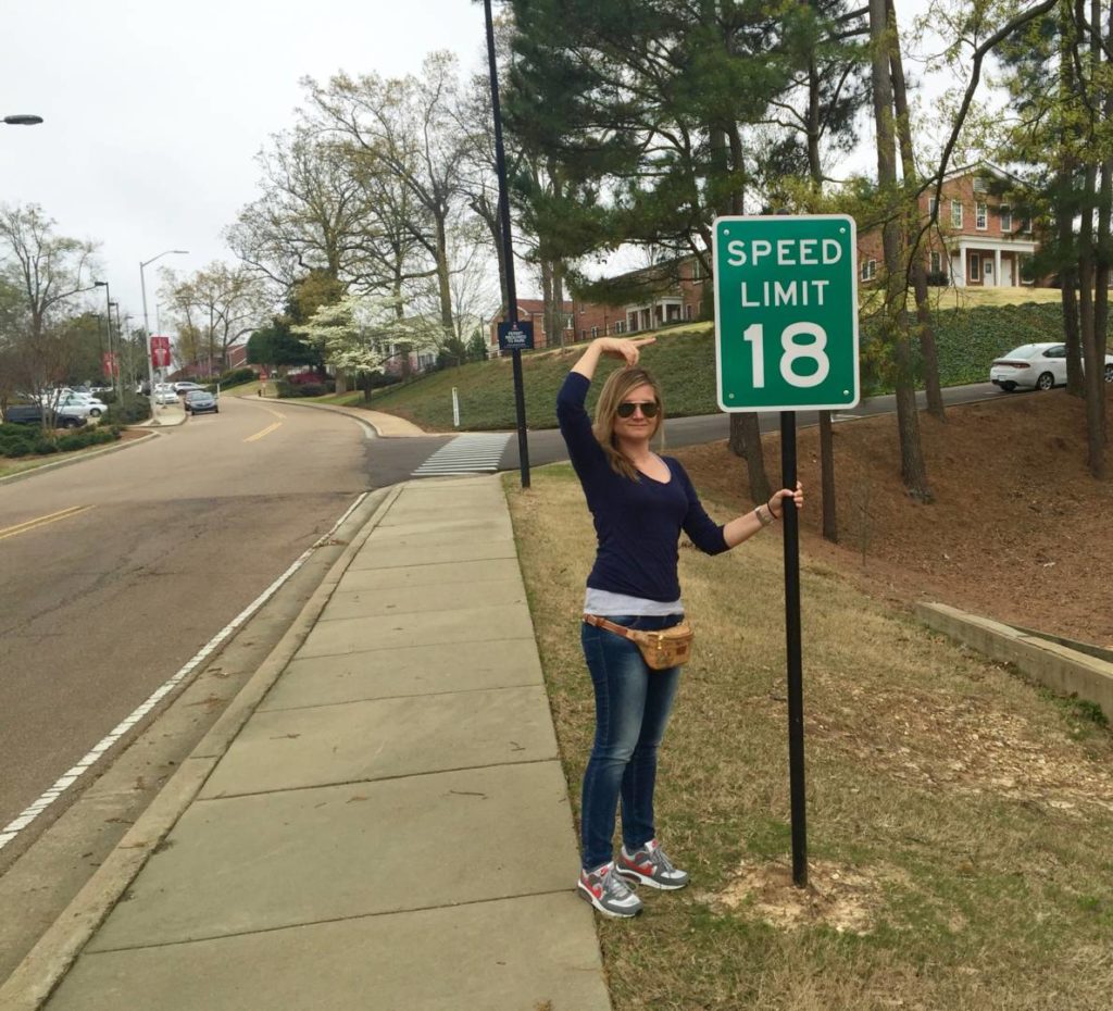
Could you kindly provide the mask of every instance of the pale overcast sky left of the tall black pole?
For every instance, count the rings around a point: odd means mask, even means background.
[[[235,262],[220,233],[255,198],[255,155],[294,125],[298,80],[417,72],[434,49],[484,67],[472,0],[22,0],[4,4],[0,202],[100,244],[121,313],[155,327],[157,271]],[[98,278],[100,279],[100,278]]]

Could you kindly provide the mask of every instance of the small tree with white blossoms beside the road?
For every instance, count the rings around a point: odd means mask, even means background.
[[[321,306],[307,323],[290,330],[319,349],[336,372],[338,392],[346,376],[358,382],[393,361],[408,362],[412,353],[435,355],[445,337],[439,321],[406,317],[398,298],[354,294]],[[370,384],[363,390],[371,395]]]

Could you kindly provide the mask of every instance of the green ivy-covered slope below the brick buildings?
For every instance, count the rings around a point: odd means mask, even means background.
[[[1058,303],[978,306],[942,310],[934,315],[943,385],[985,382],[989,363],[1013,347],[1036,341],[1063,340],[1063,312]],[[642,361],[664,386],[670,416],[713,414],[715,334],[710,324],[696,324],[658,331],[657,343],[647,347]],[[885,393],[884,366],[871,363],[870,327],[863,322],[863,392]],[[553,428],[556,423],[556,391],[583,345],[563,353],[536,352],[522,355],[526,423],[531,429]],[[601,364],[599,377],[617,363]],[[600,383],[593,384],[598,393]],[[510,357],[445,369],[433,375],[392,386],[376,393],[371,406],[408,418],[431,430],[451,430],[452,390],[460,401],[460,426],[467,430],[512,429],[515,426],[514,386]],[[593,400],[590,402],[593,403]]]

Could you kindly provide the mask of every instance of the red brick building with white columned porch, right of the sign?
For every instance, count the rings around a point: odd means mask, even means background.
[[[1016,287],[1025,279],[1025,262],[1040,248],[1032,223],[1014,215],[992,190],[1020,180],[986,163],[956,168],[943,180],[938,223],[925,236],[925,266],[934,281],[956,287]],[[919,197],[926,220],[935,209],[935,190]],[[858,281],[869,284],[884,263],[879,229],[858,234]]]

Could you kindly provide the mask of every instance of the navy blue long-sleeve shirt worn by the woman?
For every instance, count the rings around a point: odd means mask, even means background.
[[[703,511],[679,460],[661,458],[668,481],[648,474],[631,481],[611,468],[584,408],[590,385],[587,376],[570,372],[556,395],[556,420],[599,540],[588,586],[647,600],[678,600],[680,531],[701,551],[719,554],[728,550],[722,527]]]

